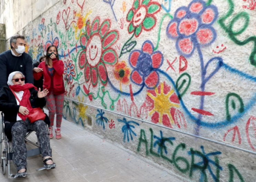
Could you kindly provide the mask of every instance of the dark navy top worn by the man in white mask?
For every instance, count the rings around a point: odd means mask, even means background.
[[[27,53],[13,56],[11,50],[0,54],[0,88],[7,86],[8,76],[13,71],[20,71],[25,75],[25,83],[34,83],[32,58]]]

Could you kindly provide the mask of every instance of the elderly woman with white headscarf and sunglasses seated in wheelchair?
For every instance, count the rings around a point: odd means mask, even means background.
[[[45,115],[40,118],[43,113],[41,108],[37,114],[32,114],[46,104],[44,97],[48,90],[37,91],[31,83],[24,83],[24,75],[19,71],[10,73],[7,84],[0,90],[0,111],[4,113],[4,133],[8,139],[12,138],[13,162],[18,171],[14,178],[26,176],[27,149],[24,137],[27,130],[37,134],[44,168],[56,168],[51,159],[48,128],[43,121]]]

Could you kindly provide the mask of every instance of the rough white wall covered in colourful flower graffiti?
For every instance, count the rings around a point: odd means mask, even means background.
[[[34,61],[58,47],[64,118],[184,180],[252,182],[255,17],[253,0],[63,0],[20,32]]]

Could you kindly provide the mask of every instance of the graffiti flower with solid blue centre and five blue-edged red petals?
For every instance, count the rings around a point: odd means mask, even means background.
[[[145,41],[142,50],[134,50],[129,56],[130,65],[134,68],[131,80],[137,85],[144,85],[153,89],[158,85],[159,75],[156,72],[163,64],[163,54],[154,52],[152,42]]]

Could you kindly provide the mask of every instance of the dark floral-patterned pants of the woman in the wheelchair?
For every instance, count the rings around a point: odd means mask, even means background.
[[[37,132],[42,157],[52,156],[47,125],[44,123],[44,121],[38,120],[34,123],[30,123],[28,119],[25,121],[19,120],[12,126],[11,130],[13,162],[17,166],[17,171],[26,168],[27,166],[27,148],[24,138],[28,130]]]

